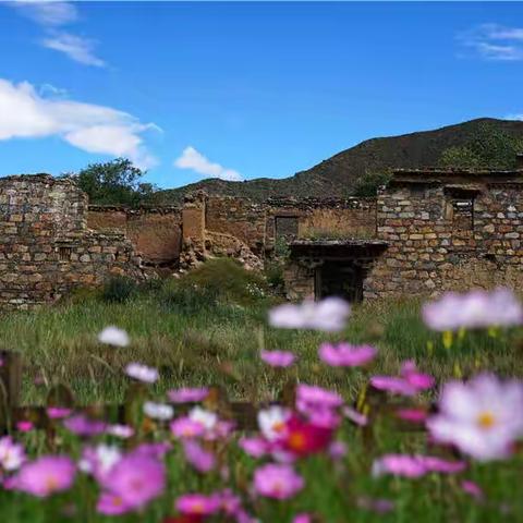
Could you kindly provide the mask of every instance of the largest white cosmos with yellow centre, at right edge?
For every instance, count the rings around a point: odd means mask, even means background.
[[[483,374],[443,386],[439,413],[427,427],[442,443],[452,443],[479,461],[507,458],[523,436],[523,384]]]

